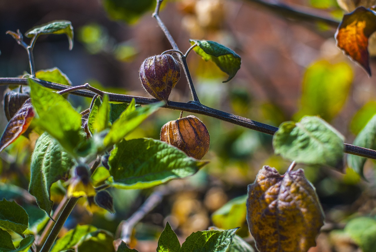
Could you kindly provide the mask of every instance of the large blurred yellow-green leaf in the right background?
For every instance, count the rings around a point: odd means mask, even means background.
[[[342,110],[352,81],[353,71],[349,64],[332,64],[324,60],[315,62],[305,72],[301,108],[294,118],[319,115],[331,121]]]

